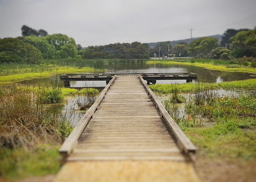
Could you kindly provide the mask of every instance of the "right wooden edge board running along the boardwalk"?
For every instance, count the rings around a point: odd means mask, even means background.
[[[176,122],[172,119],[169,113],[166,111],[163,104],[158,100],[157,96],[154,92],[148,87],[148,85],[144,82],[142,76],[139,75],[140,81],[142,82],[143,86],[146,88],[149,96],[153,98],[155,101],[157,108],[160,110],[162,117],[166,120],[168,126],[170,127],[171,131],[173,132],[175,138],[177,139],[177,145],[181,151],[184,151],[186,154],[189,152],[195,153],[196,147],[193,143],[188,139],[188,137],[184,134],[184,132],[178,127]]]

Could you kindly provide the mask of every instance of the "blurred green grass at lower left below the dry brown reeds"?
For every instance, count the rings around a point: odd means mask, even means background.
[[[59,145],[40,145],[33,150],[0,149],[0,176],[7,179],[56,174],[60,169]]]

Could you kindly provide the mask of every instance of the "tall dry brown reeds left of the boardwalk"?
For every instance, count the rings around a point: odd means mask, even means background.
[[[0,95],[0,147],[33,148],[63,140],[64,136],[57,132],[67,122],[59,119],[61,109],[38,100],[38,92],[27,86],[13,84],[4,88]]]

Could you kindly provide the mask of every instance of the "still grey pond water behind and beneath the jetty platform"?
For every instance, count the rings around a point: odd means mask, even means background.
[[[108,71],[104,73],[171,73],[171,72],[193,72],[198,74],[198,79],[193,82],[208,82],[208,83],[218,83],[224,81],[233,80],[245,80],[249,78],[248,73],[242,72],[225,72],[208,70],[202,67],[187,66],[179,64],[109,64],[107,67]],[[49,83],[53,78],[43,78],[41,83]],[[57,78],[58,80],[58,78]],[[20,83],[24,84],[35,84],[37,85],[40,79],[25,80]],[[157,83],[185,83],[186,80],[157,80]],[[71,87],[105,87],[105,81],[71,81]]]

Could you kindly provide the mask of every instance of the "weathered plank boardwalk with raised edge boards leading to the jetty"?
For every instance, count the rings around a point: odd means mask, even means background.
[[[195,146],[139,75],[114,76],[60,148],[67,161],[189,161]]]

